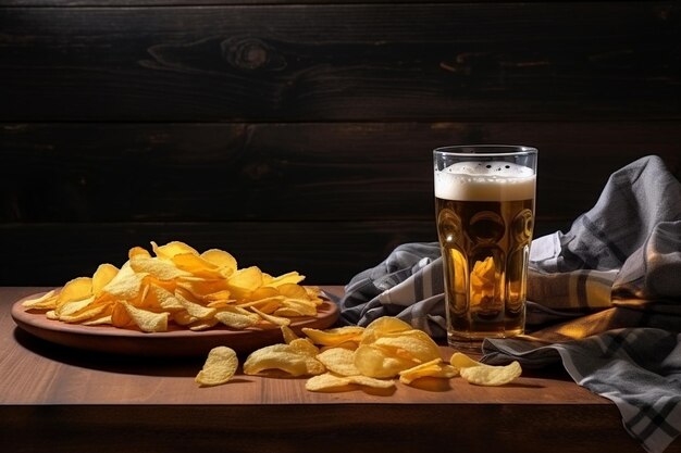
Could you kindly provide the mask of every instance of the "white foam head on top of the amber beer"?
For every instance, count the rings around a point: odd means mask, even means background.
[[[458,162],[435,172],[435,197],[443,200],[510,201],[534,198],[532,168],[512,162]]]

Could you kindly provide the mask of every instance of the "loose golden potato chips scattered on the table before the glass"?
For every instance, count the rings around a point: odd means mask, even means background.
[[[503,386],[522,373],[518,362],[492,366],[458,352],[446,363],[431,337],[389,316],[366,328],[302,328],[305,338],[286,326],[281,329],[284,343],[253,351],[244,363],[244,374],[308,376],[307,390],[343,391],[357,385],[389,389],[395,387],[396,378],[412,385],[423,377],[449,379],[458,375],[479,386]],[[201,386],[224,383],[228,380],[225,377],[233,376],[238,367],[234,361],[228,367],[211,361],[213,354],[214,350],[196,378]]]

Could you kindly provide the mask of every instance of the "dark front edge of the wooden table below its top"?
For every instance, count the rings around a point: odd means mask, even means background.
[[[358,398],[360,399],[360,398]],[[0,407],[8,420],[7,444],[32,451],[81,452],[98,445],[117,452],[120,443],[100,443],[125,432],[127,448],[152,452],[313,452],[391,451],[640,453],[609,406],[484,404],[315,404],[285,406],[32,406]],[[131,419],[137,420],[131,423]],[[30,436],[40,426],[41,436]],[[490,429],[493,426],[493,429]],[[185,446],[186,448],[186,446]],[[27,450],[27,451],[28,451]],[[676,442],[666,453],[681,451]]]

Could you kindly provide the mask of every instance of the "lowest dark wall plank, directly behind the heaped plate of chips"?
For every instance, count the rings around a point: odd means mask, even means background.
[[[345,284],[400,243],[435,239],[431,221],[0,224],[0,281],[61,286],[101,263],[120,266],[134,246],[183,240],[201,251],[226,250],[239,267],[298,270],[311,285]]]

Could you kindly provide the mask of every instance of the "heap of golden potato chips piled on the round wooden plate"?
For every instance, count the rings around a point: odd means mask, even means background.
[[[151,247],[154,256],[135,247],[120,269],[102,264],[92,277],[23,306],[64,323],[161,332],[169,323],[191,330],[287,326],[292,317],[315,316],[323,302],[319,288],[299,285],[305,277],[297,272],[273,277],[256,266],[238,268],[223,250],[199,253],[178,241]]]

